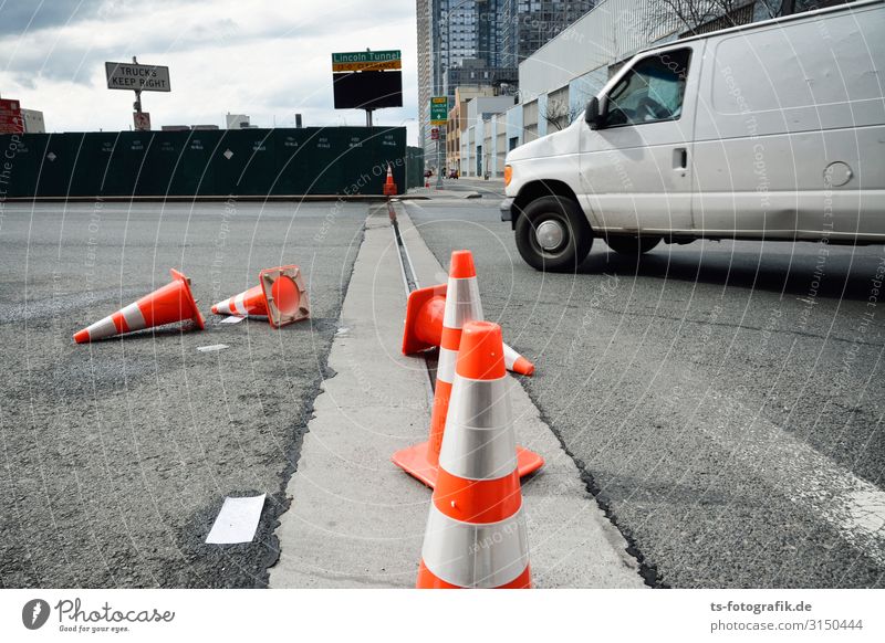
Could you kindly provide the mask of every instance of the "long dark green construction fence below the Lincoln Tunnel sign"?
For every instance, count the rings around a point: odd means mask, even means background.
[[[388,165],[402,193],[416,150],[405,127],[9,134],[0,198],[381,196]]]

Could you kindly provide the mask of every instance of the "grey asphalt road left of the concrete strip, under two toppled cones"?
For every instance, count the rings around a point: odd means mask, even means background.
[[[0,586],[263,587],[271,536],[363,235],[365,204],[6,204],[0,218]],[[302,266],[312,319],[218,325],[212,303]],[[192,280],[202,333],[71,336]],[[197,347],[226,344],[226,350]],[[207,546],[267,493],[249,545]]]

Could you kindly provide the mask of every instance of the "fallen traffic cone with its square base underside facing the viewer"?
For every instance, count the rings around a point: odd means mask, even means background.
[[[267,316],[274,328],[310,316],[301,268],[283,265],[258,273],[258,285],[212,306],[216,315]]]

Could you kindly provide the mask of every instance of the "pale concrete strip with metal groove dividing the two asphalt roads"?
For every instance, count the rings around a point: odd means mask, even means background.
[[[442,266],[398,208],[421,285]],[[399,352],[405,288],[386,208],[375,209],[342,309],[325,380],[277,530],[271,587],[414,587],[430,491],[391,463],[429,425],[424,360]],[[481,287],[480,275],[480,287]],[[504,329],[507,334],[507,329]],[[543,365],[539,365],[543,368]],[[537,587],[643,587],[626,541],[586,493],[577,468],[511,379],[517,438],[545,467],[523,481]]]

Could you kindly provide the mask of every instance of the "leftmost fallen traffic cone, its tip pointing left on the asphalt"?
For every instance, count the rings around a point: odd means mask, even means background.
[[[169,272],[173,275],[170,284],[84,328],[74,335],[74,341],[86,344],[185,319],[191,319],[202,330],[205,323],[190,293],[190,280],[177,270]]]

